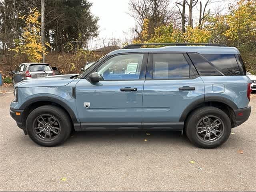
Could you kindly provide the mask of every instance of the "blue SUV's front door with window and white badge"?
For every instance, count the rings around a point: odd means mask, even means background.
[[[112,56],[94,70],[102,77],[99,83],[81,79],[76,84],[82,130],[141,129],[147,56]]]

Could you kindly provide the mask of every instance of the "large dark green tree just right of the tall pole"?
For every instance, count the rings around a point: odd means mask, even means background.
[[[91,11],[88,0],[47,0],[45,7],[45,37],[55,41],[55,50],[64,52],[66,41],[75,48],[87,46],[90,38],[98,36],[98,17]]]

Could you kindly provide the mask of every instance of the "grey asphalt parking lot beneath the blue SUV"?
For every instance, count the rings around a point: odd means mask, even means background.
[[[255,95],[250,119],[217,149],[196,148],[180,132],[130,131],[76,132],[46,148],[10,117],[12,91],[0,87],[0,191],[256,190]]]

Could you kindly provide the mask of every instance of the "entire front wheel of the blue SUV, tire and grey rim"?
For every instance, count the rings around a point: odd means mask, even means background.
[[[68,114],[61,108],[44,105],[28,115],[26,130],[37,144],[47,147],[58,146],[70,136],[72,123]]]

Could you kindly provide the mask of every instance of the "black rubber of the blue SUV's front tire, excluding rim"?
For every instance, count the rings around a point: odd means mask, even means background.
[[[36,108],[29,114],[26,120],[26,130],[28,132],[28,135],[34,142],[42,146],[57,146],[68,138],[71,132],[70,121],[69,121],[69,118],[66,118],[64,116],[62,110],[61,111],[60,110],[61,109],[57,107],[51,107],[51,106],[40,107],[40,108]],[[33,130],[34,120],[38,118],[38,116],[43,114],[49,114],[54,116],[54,118],[56,118],[60,123],[60,128],[61,128],[60,134],[58,135],[57,138],[55,138],[52,141],[45,141],[39,138]]]

